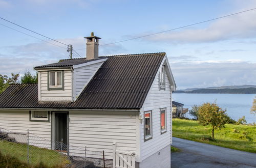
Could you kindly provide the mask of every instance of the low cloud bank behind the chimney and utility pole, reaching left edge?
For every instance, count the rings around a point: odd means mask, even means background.
[[[82,57],[86,57],[86,40],[83,37],[56,39],[65,44],[72,44],[74,49]],[[65,45],[50,41],[63,48],[45,42],[29,43],[18,46],[1,47],[0,74],[23,73],[26,70],[33,71],[33,67],[58,62],[60,59],[68,59],[69,53]],[[102,41],[102,44],[105,42]],[[4,51],[6,53],[4,53]],[[120,54],[126,51],[122,45],[108,45],[99,47],[100,55]],[[80,58],[73,52],[73,58]]]

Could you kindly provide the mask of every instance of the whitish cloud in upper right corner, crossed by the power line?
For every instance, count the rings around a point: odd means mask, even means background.
[[[237,6],[242,4],[241,1],[234,2],[236,2]],[[256,1],[246,2],[246,5],[242,4],[240,8],[221,14],[220,16],[251,9],[253,6],[256,6]],[[233,39],[256,38],[256,22],[253,20],[256,20],[256,10],[218,19],[210,22],[207,27],[195,28],[191,26],[187,29],[181,29],[180,31],[162,33],[155,36],[149,36],[145,39],[150,41],[166,41],[172,43],[205,43]]]

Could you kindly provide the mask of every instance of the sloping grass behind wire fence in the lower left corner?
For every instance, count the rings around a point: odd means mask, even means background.
[[[21,163],[27,163],[27,144],[0,141],[0,153]],[[69,161],[65,155],[53,150],[29,146],[29,167],[62,167],[67,163]],[[39,166],[40,164],[44,166]]]

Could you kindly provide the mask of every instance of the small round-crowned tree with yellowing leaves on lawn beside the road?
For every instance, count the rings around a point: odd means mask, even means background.
[[[203,126],[211,125],[211,135],[214,138],[214,130],[225,127],[228,122],[226,110],[222,110],[217,103],[203,103],[198,107],[198,120]]]

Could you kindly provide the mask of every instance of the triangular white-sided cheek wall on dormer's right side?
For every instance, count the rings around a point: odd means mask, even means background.
[[[74,93],[73,99],[75,100],[79,93],[82,91],[84,86],[88,84],[90,79],[100,68],[103,62],[87,65],[79,68],[74,68]]]

